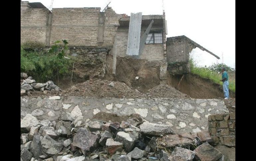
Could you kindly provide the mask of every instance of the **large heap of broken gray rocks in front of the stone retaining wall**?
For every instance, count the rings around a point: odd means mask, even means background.
[[[166,148],[158,142],[167,135],[177,134],[171,126],[141,116],[121,122],[84,120],[74,109],[51,122],[27,114],[21,120],[21,161],[223,160],[217,149],[198,137],[193,146]]]

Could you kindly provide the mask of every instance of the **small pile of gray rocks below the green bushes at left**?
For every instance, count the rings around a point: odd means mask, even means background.
[[[56,86],[53,81],[48,81],[46,83],[36,83],[32,77],[28,77],[26,73],[21,73],[21,96],[30,95],[30,91],[42,91],[44,94],[47,93],[46,90],[51,91],[62,91],[58,86]]]

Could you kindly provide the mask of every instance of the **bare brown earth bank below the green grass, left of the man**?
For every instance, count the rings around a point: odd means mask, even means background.
[[[168,84],[175,87],[182,93],[197,99],[223,98],[223,89],[220,85],[203,79],[197,75],[187,74],[182,79],[180,86],[178,84],[182,78],[180,76],[170,76]],[[229,92],[229,97],[235,98],[235,94]]]

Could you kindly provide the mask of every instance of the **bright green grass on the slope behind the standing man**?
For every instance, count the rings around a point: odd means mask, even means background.
[[[217,83],[222,86],[223,82],[220,81],[221,74],[215,70],[211,70],[207,67],[198,67],[193,59],[190,59],[190,70],[192,74],[199,75],[202,78],[210,79],[214,83]],[[235,80],[228,80],[229,90],[235,92]]]

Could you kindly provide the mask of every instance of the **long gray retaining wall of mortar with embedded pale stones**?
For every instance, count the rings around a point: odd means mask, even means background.
[[[85,120],[101,111],[117,115],[137,113],[147,121],[162,122],[171,125],[176,133],[183,133],[207,130],[209,115],[228,113],[224,102],[216,99],[58,97],[21,97],[21,118],[29,113],[39,120],[56,121],[76,107]]]

